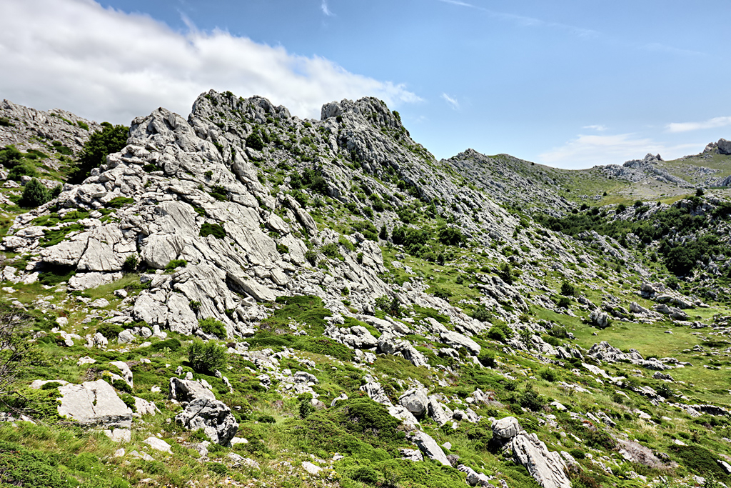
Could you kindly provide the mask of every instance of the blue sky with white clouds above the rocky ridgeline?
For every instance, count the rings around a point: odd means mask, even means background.
[[[0,98],[129,124],[203,91],[374,96],[438,158],[558,168],[731,139],[728,0],[1,0]],[[8,21],[12,19],[12,21]]]

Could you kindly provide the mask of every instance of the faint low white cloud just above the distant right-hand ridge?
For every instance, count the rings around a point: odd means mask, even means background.
[[[594,165],[621,165],[629,159],[641,159],[645,154],[660,154],[675,159],[686,151],[697,151],[702,144],[666,145],[635,134],[578,135],[564,146],[539,154],[540,162],[560,168],[590,168]]]

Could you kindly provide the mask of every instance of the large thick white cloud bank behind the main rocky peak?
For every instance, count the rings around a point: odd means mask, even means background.
[[[390,106],[421,99],[402,84],[344,70],[225,31],[176,32],[93,0],[4,0],[0,96],[34,108],[129,123],[159,106],[186,116],[203,91],[261,95],[298,116],[368,95]]]

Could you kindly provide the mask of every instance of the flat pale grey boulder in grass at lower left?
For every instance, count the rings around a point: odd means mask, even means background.
[[[58,415],[68,416],[80,424],[104,427],[132,426],[132,410],[118,397],[105,380],[87,381],[80,385],[58,387],[61,405]]]

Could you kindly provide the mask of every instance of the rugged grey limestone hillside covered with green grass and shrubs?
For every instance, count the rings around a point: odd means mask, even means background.
[[[53,113],[0,114],[4,482],[731,481],[731,204],[679,165],[437,161],[374,98],[210,91],[21,208],[102,130]]]

